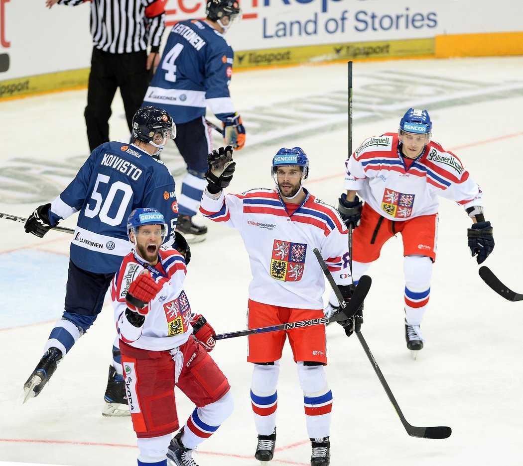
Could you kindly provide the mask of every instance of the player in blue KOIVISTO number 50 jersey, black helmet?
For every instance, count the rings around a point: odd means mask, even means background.
[[[40,393],[60,360],[96,320],[111,279],[130,251],[127,218],[131,211],[137,207],[158,209],[168,229],[164,243],[175,243],[175,182],[163,162],[153,156],[174,139],[176,127],[169,114],[156,107],[139,109],[132,124],[133,144],[109,142],[98,146],[69,186],[52,203],[36,208],[25,224],[27,233],[41,238],[61,219],[78,212],[70,247],[65,311],[24,385],[24,402]],[[176,242],[180,252],[187,248],[179,234]],[[129,415],[118,343],[113,346],[112,359],[103,414]]]

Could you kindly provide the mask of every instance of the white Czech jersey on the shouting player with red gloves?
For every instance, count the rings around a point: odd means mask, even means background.
[[[146,268],[162,289],[151,301],[141,327],[126,318],[126,293],[131,282]],[[187,268],[183,256],[174,249],[161,249],[156,267],[144,263],[133,251],[123,258],[112,280],[111,299],[119,338],[128,345],[163,351],[184,344],[192,335],[191,308],[183,289]]]

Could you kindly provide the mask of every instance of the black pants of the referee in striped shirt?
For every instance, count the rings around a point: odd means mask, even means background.
[[[108,142],[111,103],[120,88],[129,132],[132,118],[140,108],[149,85],[147,52],[109,53],[93,48],[91,71],[87,88],[85,124],[91,152]],[[122,138],[125,141],[128,137]]]

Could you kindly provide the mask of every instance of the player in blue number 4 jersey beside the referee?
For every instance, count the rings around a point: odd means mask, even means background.
[[[206,19],[179,21],[170,31],[160,66],[145,93],[143,105],[155,105],[173,115],[176,146],[187,164],[179,191],[177,229],[201,241],[206,226],[192,223],[207,182],[207,154],[212,129],[206,108],[222,121],[225,144],[236,150],[245,144],[245,129],[229,93],[234,52],[224,34],[240,15],[237,0],[209,0]]]

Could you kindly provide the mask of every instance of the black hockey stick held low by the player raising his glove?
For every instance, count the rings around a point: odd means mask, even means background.
[[[346,306],[350,305],[350,301],[348,303],[345,302],[343,299],[342,294],[339,291],[338,286],[334,282],[334,278],[331,275],[331,272],[329,272],[327,268],[327,264],[325,264],[325,261],[320,255],[320,252],[317,249],[314,249],[314,254],[316,254],[316,258],[318,262],[320,263],[320,266],[322,267],[323,273],[327,277],[327,280],[329,284],[331,285],[334,293],[336,294],[336,297],[338,298],[339,305],[342,307],[342,309],[345,309]],[[363,278],[365,275],[363,275],[361,278]],[[360,278],[360,280],[361,280]],[[369,278],[370,280],[370,278]],[[359,286],[359,283],[358,283]],[[358,287],[357,286],[357,287]],[[356,288],[357,288],[356,287]],[[419,437],[419,438],[447,438],[450,437],[450,434],[452,433],[452,429],[447,426],[438,426],[438,427],[415,427],[410,425],[407,420],[405,419],[405,416],[401,412],[399,404],[397,404],[396,399],[394,398],[394,395],[391,392],[391,389],[389,388],[388,383],[385,380],[385,377],[383,377],[383,374],[381,373],[381,370],[378,366],[378,363],[376,362],[376,359],[374,358],[373,354],[371,353],[369,346],[367,345],[367,342],[363,338],[363,335],[361,332],[356,333],[358,335],[358,340],[361,343],[361,346],[363,347],[363,351],[365,351],[365,354],[369,358],[370,363],[372,364],[372,367],[374,368],[374,371],[376,372],[376,375],[378,376],[378,379],[380,379],[381,385],[385,389],[385,393],[389,397],[389,400],[391,401],[392,405],[394,406],[394,409],[396,410],[397,415],[400,418],[401,423],[403,424],[403,427],[405,427],[405,430],[407,431],[407,434],[411,437]]]

